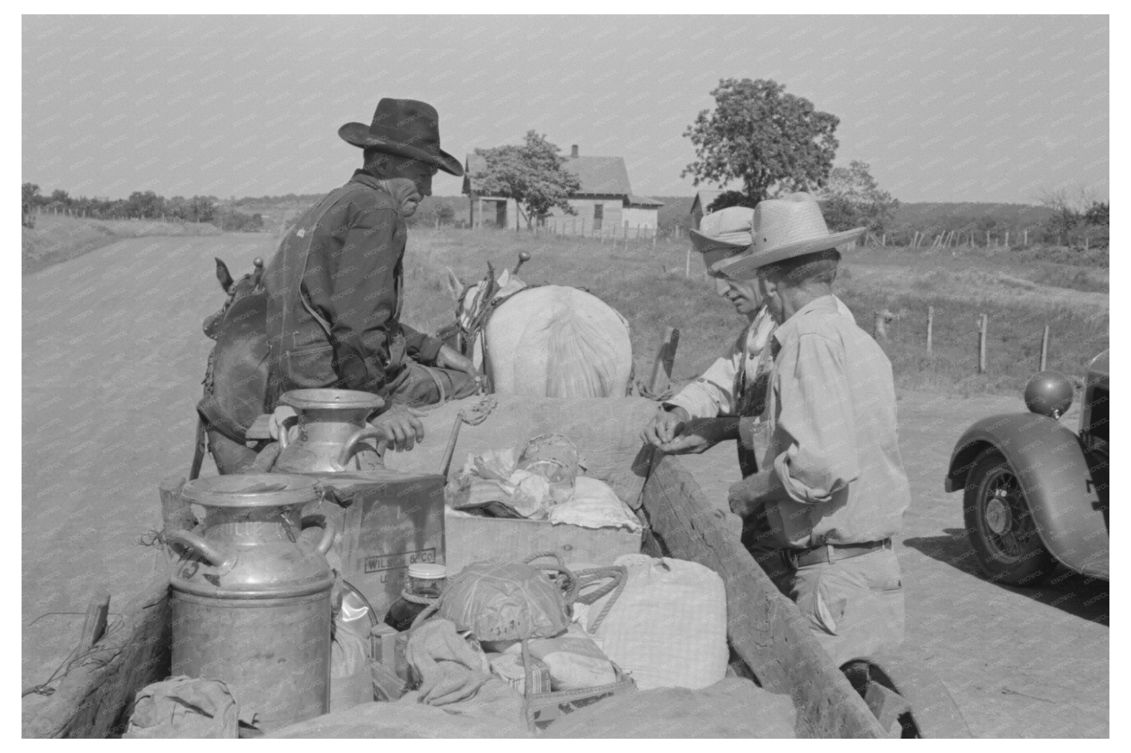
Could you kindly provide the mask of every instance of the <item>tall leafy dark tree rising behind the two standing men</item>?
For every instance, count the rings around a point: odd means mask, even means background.
[[[681,178],[693,175],[696,185],[742,181],[741,191],[727,191],[713,209],[752,207],[779,193],[820,188],[828,178],[840,146],[832,136],[840,119],[784,92],[771,79],[722,79],[710,93],[715,110],[701,111],[683,133],[697,159]]]

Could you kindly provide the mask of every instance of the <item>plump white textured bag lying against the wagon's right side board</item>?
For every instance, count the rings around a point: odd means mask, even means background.
[[[707,687],[726,676],[726,587],[696,562],[625,554],[628,570],[620,598],[590,629],[602,650],[640,690]],[[589,614],[605,606],[603,597]],[[589,628],[589,625],[586,625]]]

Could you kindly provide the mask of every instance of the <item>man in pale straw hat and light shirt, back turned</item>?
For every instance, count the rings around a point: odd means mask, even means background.
[[[739,426],[762,450],[760,470],[731,487],[729,505],[765,516],[770,535],[752,554],[847,666],[903,641],[891,537],[910,502],[891,362],[832,295],[836,246],[864,228],[830,234],[808,193],[762,201],[753,225],[751,252],[720,271],[757,276],[778,327],[766,412]]]

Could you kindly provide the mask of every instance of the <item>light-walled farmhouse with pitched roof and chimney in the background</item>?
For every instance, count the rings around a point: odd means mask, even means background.
[[[477,190],[473,175],[486,162],[476,154],[467,155],[464,172],[464,189],[470,204],[472,227],[494,226],[519,228],[526,225],[526,216],[513,199],[487,196]],[[566,234],[623,236],[653,234],[659,225],[659,208],[663,201],[637,196],[629,183],[629,172],[623,157],[582,157],[575,144],[567,157],[566,170],[577,175],[581,187],[569,197],[575,215],[567,215],[554,208],[547,216],[539,217],[539,226],[550,227]]]

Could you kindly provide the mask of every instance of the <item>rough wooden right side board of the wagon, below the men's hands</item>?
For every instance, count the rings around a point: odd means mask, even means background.
[[[798,737],[884,737],[864,700],[810,634],[725,516],[702,499],[694,478],[672,456],[653,462],[644,488],[649,548],[717,572],[726,586],[727,637],[763,687],[788,693]]]

